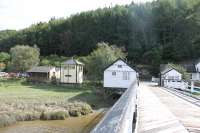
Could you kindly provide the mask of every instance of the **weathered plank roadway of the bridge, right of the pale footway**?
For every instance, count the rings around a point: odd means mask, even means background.
[[[200,107],[190,103],[192,99],[185,97],[190,101],[188,102],[160,87],[150,87],[150,90],[170,109],[189,132],[200,133]]]

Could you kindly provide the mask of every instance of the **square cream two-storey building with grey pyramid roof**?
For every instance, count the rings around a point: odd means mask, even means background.
[[[70,59],[61,64],[60,68],[61,83],[82,83],[83,82],[83,63]]]

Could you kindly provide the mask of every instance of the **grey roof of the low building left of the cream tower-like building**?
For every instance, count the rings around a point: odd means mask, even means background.
[[[54,67],[51,67],[51,66],[35,66],[31,68],[30,70],[28,70],[27,72],[48,73],[53,68]]]

